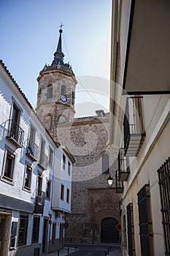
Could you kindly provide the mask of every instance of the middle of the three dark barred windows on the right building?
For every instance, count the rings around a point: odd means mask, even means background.
[[[150,212],[150,187],[144,185],[138,192],[139,229],[142,256],[152,256],[152,220]]]

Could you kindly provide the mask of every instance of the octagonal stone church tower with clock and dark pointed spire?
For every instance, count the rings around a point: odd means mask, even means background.
[[[62,25],[61,25],[62,26]],[[55,139],[55,126],[74,118],[75,78],[72,67],[64,63],[62,29],[59,30],[57,50],[51,65],[39,72],[36,113]]]

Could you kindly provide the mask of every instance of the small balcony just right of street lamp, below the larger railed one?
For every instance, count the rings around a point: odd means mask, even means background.
[[[130,175],[130,169],[128,165],[128,159],[124,156],[124,149],[120,148],[118,154],[118,173],[120,181],[127,181]]]

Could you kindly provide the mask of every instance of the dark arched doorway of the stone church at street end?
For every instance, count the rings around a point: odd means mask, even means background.
[[[101,220],[101,243],[119,243],[119,232],[116,229],[117,223],[115,218]]]

